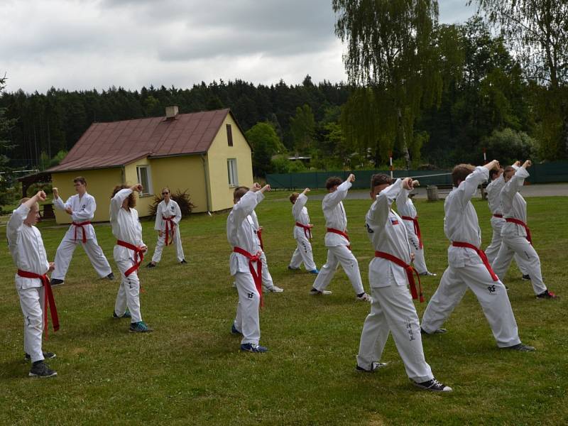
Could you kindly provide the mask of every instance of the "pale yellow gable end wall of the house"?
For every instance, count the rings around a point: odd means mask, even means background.
[[[229,146],[226,135],[226,124],[231,124],[233,146]],[[207,152],[207,168],[209,173],[210,204],[212,211],[229,209],[233,206],[233,191],[237,185],[229,185],[227,160],[236,158],[238,186],[253,184],[252,153],[244,134],[239,130],[231,114],[227,114]]]

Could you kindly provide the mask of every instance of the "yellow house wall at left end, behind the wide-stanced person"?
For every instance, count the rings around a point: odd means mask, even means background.
[[[73,179],[82,176],[87,180],[87,192],[97,201],[97,210],[94,212],[93,222],[109,220],[109,207],[112,190],[122,182],[122,168],[108,168],[99,170],[80,170],[74,172],[52,173],[53,187],[57,187],[63,202],[71,195],[75,195]],[[58,224],[70,224],[71,216],[60,209],[55,209],[55,221]]]

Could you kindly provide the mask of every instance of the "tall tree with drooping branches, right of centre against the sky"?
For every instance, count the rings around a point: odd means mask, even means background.
[[[345,105],[348,138],[379,156],[398,146],[410,167],[420,111],[439,103],[437,1],[332,0],[335,33],[347,45],[349,82],[358,87]],[[377,161],[376,161],[377,162]]]

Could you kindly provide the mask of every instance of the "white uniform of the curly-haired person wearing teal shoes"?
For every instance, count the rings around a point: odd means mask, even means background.
[[[126,188],[116,192],[111,199],[110,217],[112,234],[119,241],[132,244],[133,246],[143,246],[142,225],[138,220],[136,209],[123,209],[122,202],[131,195],[132,190]],[[136,265],[134,251],[127,247],[114,246],[114,261],[119,267],[121,283],[119,293],[116,295],[114,303],[114,313],[119,317],[124,315],[126,307],[131,314],[131,323],[141,322],[142,314],[140,311],[140,280],[138,271],[133,271],[129,276],[124,275],[132,266]]]

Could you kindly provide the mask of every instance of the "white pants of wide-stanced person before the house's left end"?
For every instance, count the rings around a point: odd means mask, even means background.
[[[51,278],[56,280],[65,280],[65,275],[67,274],[67,269],[69,269],[69,263],[73,257],[73,252],[75,248],[81,244],[83,246],[84,252],[87,253],[87,257],[97,274],[100,278],[104,278],[109,273],[112,272],[109,261],[104,257],[97,238],[88,239],[86,243],[83,243],[82,239],[77,239],[77,242],[70,239],[62,239],[61,244],[58,247],[57,253],[55,253],[55,270],[51,274]]]

